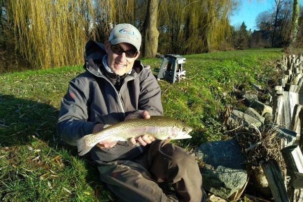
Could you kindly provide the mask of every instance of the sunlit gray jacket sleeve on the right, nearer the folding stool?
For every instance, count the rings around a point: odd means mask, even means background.
[[[143,79],[140,82],[138,108],[141,111],[148,111],[150,116],[163,116],[161,89],[157,79],[150,69],[144,69],[143,71]]]

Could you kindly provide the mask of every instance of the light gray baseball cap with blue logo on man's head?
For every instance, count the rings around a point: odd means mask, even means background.
[[[141,46],[141,34],[139,30],[131,24],[118,24],[112,29],[109,41],[113,45],[123,42],[130,43],[139,51]]]

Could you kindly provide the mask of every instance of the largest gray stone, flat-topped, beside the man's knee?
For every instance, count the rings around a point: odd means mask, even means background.
[[[236,140],[201,144],[195,155],[204,162],[201,174],[206,190],[227,199],[244,186],[247,179],[245,156]]]

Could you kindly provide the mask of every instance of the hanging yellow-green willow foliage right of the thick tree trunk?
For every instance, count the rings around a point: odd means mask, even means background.
[[[234,8],[232,0],[164,1],[159,8],[161,34],[171,44],[170,52],[192,54],[221,48],[231,30],[228,17]],[[164,4],[164,3],[162,3]],[[163,39],[161,39],[163,40]]]

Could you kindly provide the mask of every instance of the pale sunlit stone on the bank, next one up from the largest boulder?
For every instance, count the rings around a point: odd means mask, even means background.
[[[259,120],[238,110],[232,111],[230,117],[227,120],[227,124],[229,125],[230,128],[236,128],[242,124],[244,126],[247,126],[248,128],[254,128],[254,126],[260,127],[262,125],[262,123]]]

